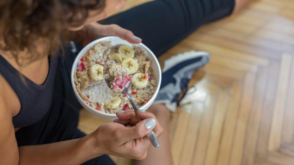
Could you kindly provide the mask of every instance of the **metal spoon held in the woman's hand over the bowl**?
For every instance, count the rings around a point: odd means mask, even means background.
[[[118,62],[115,61],[115,63],[117,64]],[[122,66],[122,67],[123,67],[123,66]],[[123,67],[123,68],[124,68],[124,67]],[[125,69],[125,71],[126,71],[126,68],[124,68],[124,69]],[[127,72],[127,71],[126,71],[126,72]],[[129,73],[128,73],[128,76],[130,77],[130,74],[129,74]],[[104,80],[105,80],[107,86],[110,88],[110,82],[109,82],[107,79],[104,79]],[[128,97],[129,101],[131,102],[131,105],[132,105],[133,108],[134,108],[134,111],[135,111],[135,114],[136,114],[136,116],[137,116],[137,118],[138,118],[138,121],[141,121],[140,117],[139,117],[138,114],[137,114],[138,107],[137,107],[137,105],[135,104],[135,102],[133,101],[132,97],[130,97],[130,95],[129,95],[129,93],[128,93],[128,90],[129,90],[131,84],[132,84],[132,81],[129,82],[129,85],[128,85],[127,87],[125,86],[125,89],[124,89],[121,93],[122,93],[122,94],[125,94],[126,97]],[[152,130],[151,132],[149,132],[149,134],[147,134],[147,137],[149,138],[150,142],[154,145],[154,147],[157,148],[157,147],[160,146],[159,143],[158,143],[158,140],[157,140],[157,138],[156,138],[156,136],[155,136],[155,134],[154,134],[154,132],[153,132],[153,130]]]

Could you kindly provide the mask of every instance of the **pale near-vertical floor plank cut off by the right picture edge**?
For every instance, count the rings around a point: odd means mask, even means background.
[[[294,140],[294,58],[292,59],[292,69],[289,77],[289,86],[287,89],[287,103],[284,115],[282,142],[292,143]]]

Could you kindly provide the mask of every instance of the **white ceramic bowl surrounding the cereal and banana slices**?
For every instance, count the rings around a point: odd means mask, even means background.
[[[115,114],[108,114],[108,113],[104,113],[104,112],[100,112],[97,111],[96,109],[92,108],[90,105],[86,104],[85,101],[83,101],[83,99],[80,97],[80,95],[77,93],[77,90],[75,88],[75,83],[74,83],[74,71],[77,68],[77,62],[81,59],[81,57],[87,53],[87,51],[94,45],[96,45],[97,43],[101,42],[101,41],[111,41],[111,45],[116,46],[116,45],[129,45],[129,46],[140,46],[141,48],[143,48],[146,52],[147,57],[149,57],[150,61],[151,61],[151,68],[153,69],[153,76],[156,78],[156,91],[154,93],[154,95],[151,97],[151,99],[145,104],[143,105],[140,109],[142,110],[146,110],[147,108],[149,108],[152,103],[155,101],[155,98],[158,94],[159,91],[159,87],[160,87],[160,83],[161,83],[161,69],[160,69],[160,65],[159,62],[156,58],[156,56],[154,55],[154,53],[144,44],[139,43],[139,44],[130,44],[129,42],[127,42],[126,40],[120,39],[119,37],[115,37],[115,36],[109,36],[109,37],[104,37],[104,38],[100,38],[97,39],[91,43],[89,43],[87,46],[85,46],[80,53],[77,55],[76,59],[74,60],[74,64],[73,67],[71,69],[71,75],[70,75],[70,79],[71,79],[71,84],[73,86],[74,89],[74,94],[77,97],[77,100],[80,102],[80,104],[89,112],[91,112],[92,114],[99,116],[101,118],[104,119],[109,119],[109,120],[114,120],[116,119],[116,115]]]

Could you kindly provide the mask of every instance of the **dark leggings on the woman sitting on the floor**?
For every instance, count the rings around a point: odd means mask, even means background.
[[[100,21],[118,24],[143,39],[157,56],[168,50],[199,26],[232,13],[234,0],[156,0]],[[81,50],[81,47],[78,47]],[[66,49],[59,58],[51,110],[39,122],[16,133],[18,146],[40,145],[84,137],[77,129],[78,103],[70,83],[70,70],[77,53]],[[107,155],[85,164],[114,164]]]

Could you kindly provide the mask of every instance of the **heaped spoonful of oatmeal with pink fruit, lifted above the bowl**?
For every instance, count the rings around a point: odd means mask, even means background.
[[[114,60],[109,60],[104,64],[103,73],[104,78],[110,82],[110,89],[113,92],[122,93],[130,84],[131,78],[128,72],[121,63],[115,63]]]

